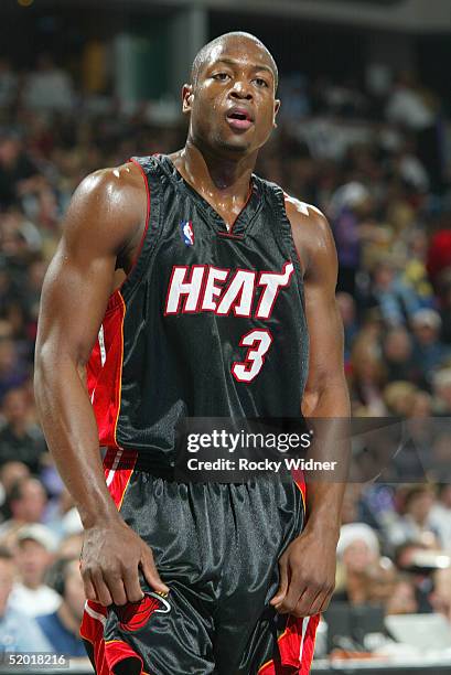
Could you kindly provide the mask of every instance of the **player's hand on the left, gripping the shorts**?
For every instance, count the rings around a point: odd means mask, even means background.
[[[80,571],[88,600],[104,606],[139,602],[139,570],[155,591],[169,592],[151,549],[120,516],[85,529]]]

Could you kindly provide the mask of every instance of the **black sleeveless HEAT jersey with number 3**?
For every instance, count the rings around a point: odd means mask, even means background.
[[[253,175],[228,231],[168,157],[132,161],[148,222],[88,364],[100,444],[165,464],[182,418],[299,417],[309,345],[283,191]]]

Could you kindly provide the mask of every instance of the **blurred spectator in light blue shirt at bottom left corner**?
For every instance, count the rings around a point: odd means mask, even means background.
[[[13,579],[12,555],[0,547],[0,652],[50,652],[35,621],[10,604]]]

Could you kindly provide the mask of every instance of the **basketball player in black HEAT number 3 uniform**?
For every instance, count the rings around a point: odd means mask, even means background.
[[[173,476],[186,416],[348,414],[327,223],[253,174],[277,84],[249,34],[203,47],[185,147],[86,178],[44,282],[35,392],[98,675],[310,669],[343,486]]]

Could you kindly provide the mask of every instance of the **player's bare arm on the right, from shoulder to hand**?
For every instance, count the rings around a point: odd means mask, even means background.
[[[307,475],[307,523],[279,560],[280,585],[271,600],[277,611],[299,617],[323,611],[335,586],[335,555],[348,461],[344,424],[350,398],[343,364],[343,325],[335,301],[337,260],[329,224],[321,212],[288,200],[287,214],[304,270],[305,315],[310,338],[309,376],[302,401],[312,421],[314,460],[336,461],[336,473]],[[334,482],[336,480],[336,482]]]

